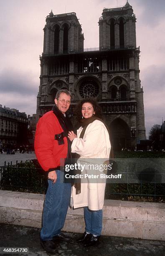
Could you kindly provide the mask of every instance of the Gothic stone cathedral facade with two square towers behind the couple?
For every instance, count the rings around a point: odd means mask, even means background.
[[[72,94],[77,102],[94,97],[109,126],[114,150],[135,149],[145,139],[140,47],[136,46],[136,17],[127,2],[105,9],[99,18],[99,48],[84,49],[84,35],[76,13],[46,18],[41,60],[37,116],[51,110],[56,92]],[[72,117],[73,123],[76,117]]]

